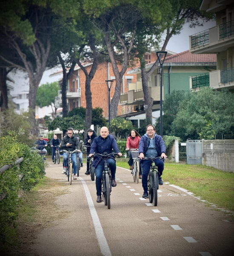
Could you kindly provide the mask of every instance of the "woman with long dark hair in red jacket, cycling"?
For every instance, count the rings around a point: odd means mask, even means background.
[[[129,134],[129,137],[127,139],[126,150],[129,150],[128,151],[128,156],[129,156],[128,165],[130,166],[131,174],[133,174],[133,171],[132,171],[133,159],[131,156],[130,149],[131,148],[139,148],[140,138],[141,138],[140,134],[136,130],[132,129]],[[139,166],[140,166],[139,178],[141,179],[142,178],[141,164]]]

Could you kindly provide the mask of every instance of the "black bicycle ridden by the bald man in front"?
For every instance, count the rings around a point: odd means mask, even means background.
[[[102,193],[103,193],[103,201],[104,204],[107,205],[108,209],[111,209],[111,170],[108,166],[107,159],[110,155],[118,155],[116,153],[104,153],[104,154],[95,154],[94,157],[102,158],[104,163],[104,170],[103,170],[103,178],[102,178]]]

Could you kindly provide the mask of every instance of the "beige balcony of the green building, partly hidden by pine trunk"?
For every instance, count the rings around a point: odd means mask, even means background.
[[[142,88],[142,83],[137,82],[138,86],[141,85]],[[137,86],[135,85],[132,86]],[[130,84],[129,84],[129,89],[130,89]],[[149,87],[149,92],[150,96],[154,99],[154,102],[159,102],[160,101],[160,86],[154,86],[154,87]],[[164,90],[163,90],[163,100],[164,100]],[[144,93],[143,89],[138,89],[138,90],[128,90],[127,93],[121,93],[120,95],[120,105],[140,105],[144,104]]]

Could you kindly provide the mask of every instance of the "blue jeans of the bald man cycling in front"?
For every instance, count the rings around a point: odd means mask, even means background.
[[[104,160],[102,160],[98,165],[95,167],[96,173],[96,189],[97,195],[102,195],[102,179],[103,179],[103,170],[104,170]],[[107,163],[111,169],[111,180],[115,179],[115,172],[116,172],[116,163],[113,158],[108,158]]]

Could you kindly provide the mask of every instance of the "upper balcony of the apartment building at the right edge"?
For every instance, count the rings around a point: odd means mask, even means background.
[[[234,46],[234,20],[189,36],[190,52],[195,54],[225,51]]]

